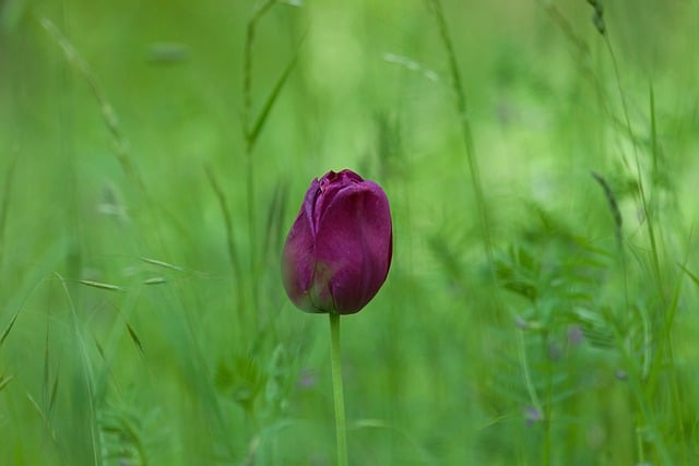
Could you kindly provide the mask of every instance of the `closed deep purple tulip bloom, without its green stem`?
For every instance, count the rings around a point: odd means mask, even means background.
[[[307,312],[358,312],[386,282],[392,247],[381,187],[351,170],[329,171],[311,183],[286,238],[286,294]]]

